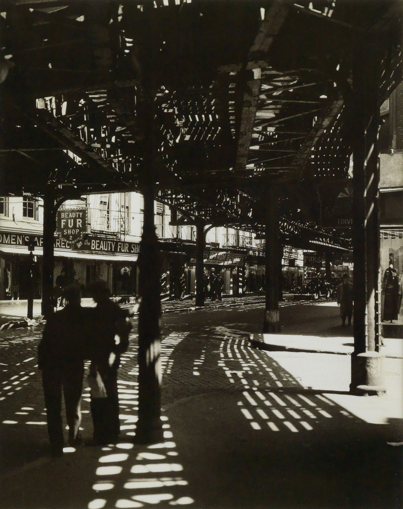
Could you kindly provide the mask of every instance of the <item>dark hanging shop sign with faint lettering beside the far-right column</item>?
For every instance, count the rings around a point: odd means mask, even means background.
[[[319,186],[322,228],[349,228],[353,224],[352,179]]]

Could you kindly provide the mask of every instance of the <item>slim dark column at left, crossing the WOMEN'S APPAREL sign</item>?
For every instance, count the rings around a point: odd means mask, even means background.
[[[53,313],[54,232],[56,205],[52,191],[43,197],[43,259],[42,259],[42,315],[48,319]]]

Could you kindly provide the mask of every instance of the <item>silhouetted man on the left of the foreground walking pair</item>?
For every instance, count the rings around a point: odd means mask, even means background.
[[[51,455],[63,456],[65,444],[61,418],[61,393],[69,425],[69,444],[81,442],[81,392],[84,374],[85,312],[77,288],[66,287],[66,307],[47,321],[38,346],[38,367],[42,371]]]

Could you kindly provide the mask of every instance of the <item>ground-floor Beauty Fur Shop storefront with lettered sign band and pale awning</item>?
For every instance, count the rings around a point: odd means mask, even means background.
[[[29,285],[34,298],[41,298],[42,235],[0,231],[0,300],[26,299]],[[31,250],[32,249],[32,250]],[[104,279],[112,295],[134,295],[140,244],[88,234],[69,243],[54,239],[54,285],[64,271],[67,284],[76,282],[83,296],[92,281]],[[32,276],[31,276],[32,274]],[[32,279],[30,279],[32,277]]]

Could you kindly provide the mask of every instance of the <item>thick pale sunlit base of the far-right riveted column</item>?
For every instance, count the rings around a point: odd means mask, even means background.
[[[386,393],[385,356],[379,352],[364,352],[351,356],[350,393],[382,395]]]

